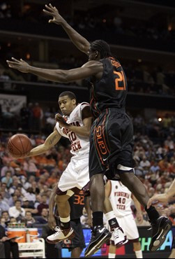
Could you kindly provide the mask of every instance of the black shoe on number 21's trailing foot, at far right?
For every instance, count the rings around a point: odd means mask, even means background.
[[[172,228],[172,221],[167,217],[158,218],[152,225],[152,239],[149,246],[149,251],[154,252],[162,246],[169,230]]]

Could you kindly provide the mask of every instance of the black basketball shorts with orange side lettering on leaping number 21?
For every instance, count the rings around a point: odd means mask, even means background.
[[[107,172],[113,179],[121,172],[133,172],[133,126],[119,109],[106,109],[93,122],[90,135],[89,174]]]

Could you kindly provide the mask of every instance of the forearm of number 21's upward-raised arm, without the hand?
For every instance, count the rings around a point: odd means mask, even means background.
[[[82,35],[77,33],[75,29],[73,29],[70,25],[68,25],[68,22],[66,20],[63,20],[61,23],[61,26],[68,34],[70,40],[73,42],[73,44],[82,52],[84,52],[87,55],[87,52],[89,50],[90,43],[86,40]]]

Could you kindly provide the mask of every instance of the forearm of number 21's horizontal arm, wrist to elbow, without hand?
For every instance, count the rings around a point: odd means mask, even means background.
[[[61,69],[40,69],[35,66],[28,67],[28,73],[45,78],[53,82],[66,83],[66,71]]]

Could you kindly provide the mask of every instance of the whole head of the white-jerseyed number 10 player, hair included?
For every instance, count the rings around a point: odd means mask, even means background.
[[[73,92],[61,92],[59,94],[59,108],[64,116],[69,116],[77,106],[77,99]]]

